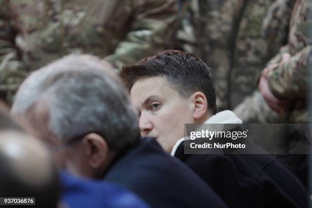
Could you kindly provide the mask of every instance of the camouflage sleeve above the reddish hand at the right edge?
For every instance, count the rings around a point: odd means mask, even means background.
[[[284,46],[268,64],[278,64],[282,53],[289,52],[290,60],[277,65],[269,74],[272,93],[281,99],[305,99],[309,86],[309,67],[311,66],[312,1],[296,2],[290,22],[288,45]]]

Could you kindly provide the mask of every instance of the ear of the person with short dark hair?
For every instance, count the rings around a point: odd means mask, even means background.
[[[206,96],[202,92],[196,92],[192,95],[193,102],[193,118],[194,120],[205,119],[205,115],[207,112],[207,99]]]

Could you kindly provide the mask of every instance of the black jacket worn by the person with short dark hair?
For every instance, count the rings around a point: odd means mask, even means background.
[[[307,191],[290,169],[256,145],[249,144],[248,151],[262,154],[185,155],[183,142],[174,156],[231,208],[308,207]]]

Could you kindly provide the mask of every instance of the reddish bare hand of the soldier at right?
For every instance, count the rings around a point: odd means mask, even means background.
[[[278,113],[284,113],[285,110],[289,109],[291,102],[288,100],[282,100],[276,98],[269,87],[268,76],[267,74],[275,67],[276,65],[270,65],[265,68],[262,72],[262,76],[259,79],[258,88],[266,103],[270,108]]]

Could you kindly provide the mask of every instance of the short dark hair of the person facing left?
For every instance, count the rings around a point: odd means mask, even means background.
[[[209,110],[213,114],[217,112],[214,80],[210,69],[192,53],[166,50],[143,58],[135,65],[123,67],[120,75],[129,91],[140,78],[165,77],[184,98],[197,91],[202,92],[206,96]]]

